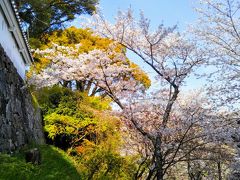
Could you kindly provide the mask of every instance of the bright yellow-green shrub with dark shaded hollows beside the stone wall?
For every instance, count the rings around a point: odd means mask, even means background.
[[[108,113],[110,101],[89,97],[54,86],[36,93],[44,115],[44,129],[55,141],[64,136],[67,147],[76,147],[85,139],[103,139],[106,132],[115,132],[119,127],[116,117]]]

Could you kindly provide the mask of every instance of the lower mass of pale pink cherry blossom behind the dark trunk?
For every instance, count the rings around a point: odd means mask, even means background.
[[[235,155],[231,135],[235,131],[236,121],[226,121],[226,117],[221,114],[216,116],[206,99],[199,98],[199,93],[192,93],[178,98],[171,110],[169,122],[164,127],[162,104],[156,95],[154,97],[131,103],[122,115],[128,132],[132,134],[129,147],[142,155],[136,177],[152,179],[157,176],[154,142],[159,132],[165,177],[170,177],[172,169],[179,164],[185,171],[188,169],[189,177],[196,177],[197,173],[210,174],[210,171],[217,174],[216,170],[220,173],[215,177],[226,177],[228,171],[224,173],[222,168],[229,167]],[[208,168],[196,168],[196,163],[206,164]],[[210,164],[215,166],[211,168]]]

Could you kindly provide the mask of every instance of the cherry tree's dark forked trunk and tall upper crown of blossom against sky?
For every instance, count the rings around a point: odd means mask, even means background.
[[[165,28],[160,25],[154,32],[150,32],[150,21],[143,14],[139,21],[133,18],[131,10],[120,12],[114,25],[109,24],[102,16],[95,15],[91,27],[104,37],[108,37],[125,46],[138,55],[157,74],[161,82],[161,113],[159,114],[161,128],[158,124],[154,135],[139,125],[138,121],[130,118],[138,131],[146,136],[154,146],[154,176],[163,179],[163,129],[168,127],[172,107],[177,100],[180,86],[193,68],[202,63],[202,54],[195,49],[195,44],[187,41],[176,33],[175,27]],[[131,109],[131,108],[130,108]],[[129,111],[128,108],[124,109]],[[131,114],[131,111],[128,112]],[[159,119],[158,119],[159,120]],[[151,120],[154,121],[154,120]],[[150,121],[150,122],[151,122]]]

